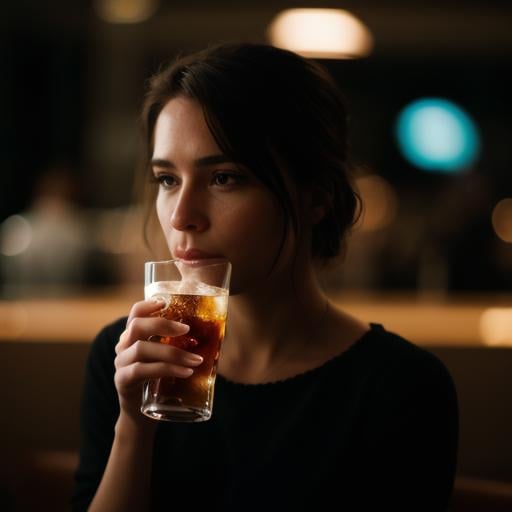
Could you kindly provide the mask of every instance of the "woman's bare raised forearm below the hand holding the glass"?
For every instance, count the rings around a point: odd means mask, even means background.
[[[141,428],[121,413],[107,466],[89,512],[149,510],[154,430],[154,425],[148,423]]]

